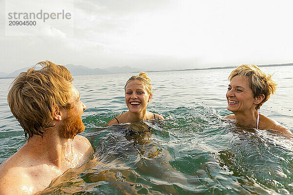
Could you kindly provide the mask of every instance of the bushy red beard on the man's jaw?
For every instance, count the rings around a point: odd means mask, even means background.
[[[73,139],[77,134],[84,132],[84,123],[81,116],[68,111],[67,118],[64,119],[59,135],[67,139]]]

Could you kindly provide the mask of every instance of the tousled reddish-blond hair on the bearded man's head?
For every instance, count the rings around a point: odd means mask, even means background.
[[[52,127],[54,108],[70,109],[73,102],[72,76],[64,66],[42,61],[42,69],[28,69],[11,84],[8,104],[14,117],[20,122],[26,138],[42,136],[46,128]]]

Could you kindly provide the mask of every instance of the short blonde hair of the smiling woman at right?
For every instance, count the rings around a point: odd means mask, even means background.
[[[265,95],[265,98],[256,105],[256,109],[258,110],[264,102],[266,102],[271,94],[274,94],[276,90],[276,82],[272,80],[272,75],[265,74],[262,70],[260,70],[255,65],[243,64],[234,69],[229,76],[229,80],[231,81],[233,77],[239,75],[240,77],[245,77],[248,79],[250,88],[254,94],[254,98],[259,95]]]

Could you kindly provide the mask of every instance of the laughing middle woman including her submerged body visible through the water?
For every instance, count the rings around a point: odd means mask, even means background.
[[[144,174],[151,174],[153,176],[164,179],[169,183],[186,184],[186,177],[173,169],[169,163],[166,163],[171,158],[166,149],[156,146],[151,139],[151,133],[141,123],[136,121],[151,120],[154,118],[164,119],[161,115],[151,113],[146,110],[147,104],[152,98],[152,86],[150,78],[144,72],[140,72],[138,76],[130,77],[125,85],[125,101],[128,111],[124,114],[118,115],[113,120],[109,121],[107,125],[134,122],[131,123],[131,130],[138,134],[126,136],[126,139],[131,141],[135,146],[135,152],[143,161],[137,161],[137,169]],[[146,130],[147,129],[147,130]],[[161,154],[161,155],[160,155]],[[164,170],[164,171],[163,171]],[[169,194],[178,194],[173,186],[168,188]]]

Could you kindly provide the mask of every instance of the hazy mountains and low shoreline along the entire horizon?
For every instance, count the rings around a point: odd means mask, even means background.
[[[259,67],[264,66],[293,66],[293,63],[288,64],[269,64],[269,65],[259,65]],[[21,68],[19,70],[14,71],[13,73],[6,74],[3,72],[0,72],[0,78],[15,78],[17,77],[21,72],[26,72],[29,68],[32,68],[34,66]],[[138,73],[142,71],[138,68],[132,68],[130,66],[111,66],[106,69],[100,69],[100,68],[88,68],[86,66],[76,66],[73,64],[67,64],[65,67],[71,72],[72,75],[102,75],[102,74],[118,74],[118,73]],[[209,70],[209,69],[226,69],[226,68],[235,68],[235,66],[226,66],[226,67],[212,67],[212,68],[194,68],[194,69],[180,69],[180,70],[169,70],[169,71],[187,71],[187,70]],[[148,72],[161,72],[161,71],[148,71]],[[166,71],[164,71],[166,72]]]

